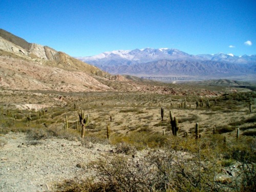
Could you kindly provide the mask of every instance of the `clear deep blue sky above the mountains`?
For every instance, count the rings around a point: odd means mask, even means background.
[[[256,1],[1,0],[0,28],[71,56],[146,47],[251,55]]]

